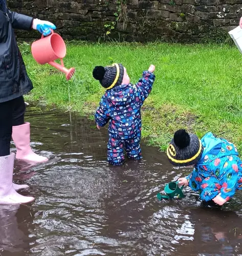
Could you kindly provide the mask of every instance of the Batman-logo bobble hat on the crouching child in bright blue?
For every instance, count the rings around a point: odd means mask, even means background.
[[[195,134],[188,134],[181,129],[174,133],[166,154],[173,165],[188,166],[200,160],[203,150],[202,143]]]

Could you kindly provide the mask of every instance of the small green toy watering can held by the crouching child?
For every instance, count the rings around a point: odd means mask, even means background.
[[[185,195],[182,192],[182,189],[184,186],[179,187],[178,184],[179,184],[179,181],[168,183],[164,188],[166,195],[161,195],[161,193],[158,193],[157,194],[158,200],[161,201],[162,199],[171,199],[174,197],[184,198]]]

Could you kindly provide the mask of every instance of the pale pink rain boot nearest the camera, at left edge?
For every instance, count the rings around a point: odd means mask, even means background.
[[[24,204],[34,201],[33,197],[19,195],[13,188],[14,153],[0,157],[0,204]]]

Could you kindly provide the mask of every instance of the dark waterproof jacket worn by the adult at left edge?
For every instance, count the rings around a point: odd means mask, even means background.
[[[32,29],[33,18],[6,7],[0,0],[0,103],[27,94],[33,84],[27,75],[13,29]]]

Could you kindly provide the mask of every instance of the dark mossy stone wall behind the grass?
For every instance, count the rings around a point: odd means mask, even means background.
[[[52,21],[65,39],[92,41],[199,42],[220,38],[242,16],[242,0],[9,0],[8,6]],[[17,36],[39,37],[23,31]]]

